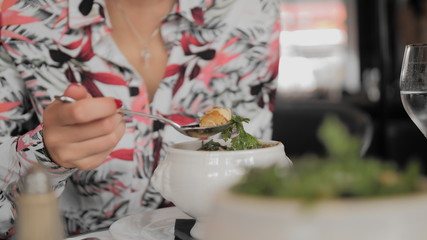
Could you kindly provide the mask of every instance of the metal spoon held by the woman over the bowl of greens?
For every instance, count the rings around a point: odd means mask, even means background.
[[[76,101],[75,99],[67,97],[67,96],[55,96],[55,98],[59,99],[62,102],[66,102],[66,103],[72,103],[72,102]],[[198,123],[189,124],[189,125],[179,125],[178,123],[171,121],[170,119],[167,119],[167,118],[162,117],[160,115],[153,115],[153,114],[148,114],[148,113],[135,112],[135,111],[125,109],[125,108],[121,108],[119,111],[123,114],[139,115],[142,117],[147,117],[147,118],[159,120],[161,122],[164,122],[164,123],[171,125],[178,132],[180,132],[186,136],[194,137],[194,138],[204,138],[204,137],[209,137],[209,136],[215,135],[217,133],[224,131],[225,129],[227,129],[231,125],[231,122],[228,122],[228,123],[223,124],[223,125],[215,126],[215,127],[200,127],[200,125]]]

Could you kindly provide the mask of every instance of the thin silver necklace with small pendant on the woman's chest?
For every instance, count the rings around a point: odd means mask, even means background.
[[[142,50],[139,53],[142,57],[142,60],[144,61],[144,68],[149,67],[150,64],[150,58],[151,58],[151,52],[150,52],[150,43],[151,40],[154,39],[154,37],[159,33],[160,26],[154,29],[154,31],[151,33],[150,38],[148,40],[144,40],[141,35],[139,35],[138,31],[136,30],[135,26],[132,24],[132,21],[129,19],[128,15],[125,13],[124,8],[120,4],[120,1],[114,0],[116,3],[117,8],[119,9],[120,13],[123,16],[123,19],[125,20],[126,24],[128,25],[129,29],[133,33],[133,35],[136,37],[138,42],[142,45]]]

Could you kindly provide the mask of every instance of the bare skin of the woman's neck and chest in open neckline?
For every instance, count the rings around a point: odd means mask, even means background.
[[[159,29],[163,17],[171,11],[174,2],[175,0],[107,0],[112,37],[144,79],[150,101],[163,79],[168,60]]]

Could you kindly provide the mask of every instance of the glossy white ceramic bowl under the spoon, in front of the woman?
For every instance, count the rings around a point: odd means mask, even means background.
[[[236,184],[247,168],[292,165],[284,146],[261,141],[268,147],[239,151],[198,151],[202,141],[175,144],[156,168],[152,183],[162,196],[196,219],[194,238],[203,237],[203,222],[209,216],[215,195]]]

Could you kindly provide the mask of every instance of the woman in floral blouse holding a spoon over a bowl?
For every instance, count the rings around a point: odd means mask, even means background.
[[[70,235],[162,205],[150,176],[168,146],[192,139],[122,106],[180,124],[221,106],[270,138],[278,17],[274,0],[3,0],[1,236],[34,164]]]

